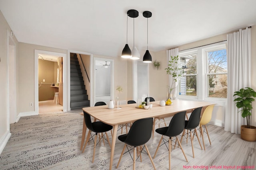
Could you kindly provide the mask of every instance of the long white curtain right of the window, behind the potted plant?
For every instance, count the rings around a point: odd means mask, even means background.
[[[241,125],[246,125],[246,119],[238,113],[233,97],[240,88],[250,87],[251,82],[251,32],[250,29],[240,29],[227,35],[228,59],[228,96],[225,115],[225,131],[240,133]]]

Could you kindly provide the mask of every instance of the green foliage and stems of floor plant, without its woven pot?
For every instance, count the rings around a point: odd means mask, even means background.
[[[241,88],[239,91],[234,92],[233,96],[238,96],[234,100],[236,101],[236,107],[242,108],[242,117],[246,117],[247,128],[251,128],[252,125],[252,102],[255,101],[256,92],[249,87]],[[238,112],[240,112],[238,111]]]

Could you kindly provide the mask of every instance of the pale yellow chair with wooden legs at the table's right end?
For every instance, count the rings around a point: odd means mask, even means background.
[[[206,127],[206,124],[210,122],[210,120],[212,119],[212,111],[213,111],[213,107],[214,105],[210,105],[207,106],[206,109],[204,110],[200,123],[199,123],[199,127],[200,127],[200,131],[201,131],[201,136],[202,136],[202,140],[203,140],[203,145],[204,145],[204,130],[203,130],[203,126],[206,129],[206,133],[210,142],[210,145],[212,145],[211,140],[210,140],[210,136]],[[204,150],[205,150],[205,145],[204,145]]]

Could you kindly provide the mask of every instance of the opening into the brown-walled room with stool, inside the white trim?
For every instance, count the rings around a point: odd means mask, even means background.
[[[62,57],[38,54],[38,113],[63,111]]]

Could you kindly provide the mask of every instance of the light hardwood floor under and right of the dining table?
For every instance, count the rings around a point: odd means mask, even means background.
[[[166,119],[166,124],[169,124],[170,119]],[[162,127],[164,123],[160,126]],[[188,138],[188,143],[186,143],[186,138],[183,138],[182,147],[184,152],[188,158],[188,162],[186,162],[184,155],[180,148],[174,149],[172,147],[171,152],[171,167],[172,170],[185,170],[185,169],[197,169],[197,170],[206,170],[206,169],[229,169],[229,170],[251,170],[256,169],[256,142],[247,142],[240,139],[239,134],[234,134],[230,132],[224,131],[224,127],[219,127],[215,125],[208,125],[208,131],[210,133],[210,139],[212,145],[210,145],[206,133],[204,134],[205,146],[206,150],[201,150],[200,145],[196,139],[194,138],[194,154],[195,158],[193,158],[192,147],[190,138]],[[156,125],[158,128],[158,125]],[[124,131],[125,132],[125,131]],[[110,134],[109,134],[110,135]],[[120,135],[120,132],[118,132]],[[151,139],[146,143],[150,154],[153,158],[156,148],[158,146],[161,135],[154,133],[154,139]],[[164,137],[168,140],[167,137]],[[180,137],[179,137],[180,139]],[[111,140],[111,135],[110,135]],[[202,138],[200,138],[200,142],[202,144]],[[162,142],[163,144],[163,142]],[[173,144],[173,143],[172,143]],[[89,145],[90,146],[90,145]],[[120,154],[122,152],[122,148],[124,147],[124,143],[120,142],[118,139],[116,140],[116,147],[114,153],[114,161],[113,168],[116,169],[116,165],[118,163]],[[168,147],[168,144],[167,144]],[[154,164],[157,170],[167,170],[168,169],[168,149],[165,145],[162,145],[156,157],[153,159]],[[202,144],[203,147],[203,144]],[[85,152],[92,153],[93,146],[86,147]],[[110,153],[110,146],[106,145],[107,151]],[[96,149],[97,150],[97,149]],[[95,158],[98,159],[99,155],[95,155]],[[109,162],[108,162],[109,165]],[[106,167],[108,167],[108,165]],[[136,169],[147,169],[144,166],[152,169],[152,164],[147,155],[142,155],[142,162],[140,159],[136,161]],[[244,166],[244,167],[239,167]],[[251,166],[245,167],[245,166]],[[91,168],[94,167],[93,165]],[[122,161],[118,169],[126,169],[125,167],[132,168],[132,159],[130,158],[129,153],[124,154],[122,157]],[[143,168],[142,168],[143,167]]]

